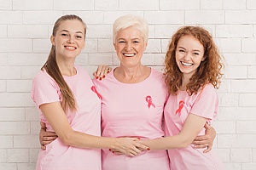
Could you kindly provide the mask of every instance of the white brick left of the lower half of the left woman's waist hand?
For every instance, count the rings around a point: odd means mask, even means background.
[[[14,137],[15,148],[39,148],[38,135],[16,135]]]

